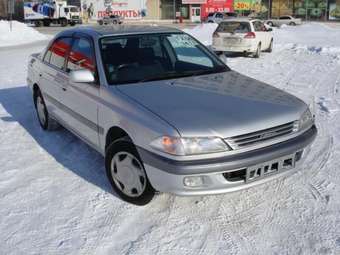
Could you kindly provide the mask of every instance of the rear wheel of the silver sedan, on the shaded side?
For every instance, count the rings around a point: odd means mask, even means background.
[[[48,114],[47,107],[40,90],[38,90],[34,96],[34,106],[42,129],[52,131],[59,127],[58,122],[52,119]]]

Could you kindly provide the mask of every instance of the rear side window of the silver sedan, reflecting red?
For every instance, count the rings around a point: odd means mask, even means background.
[[[71,48],[71,42],[72,39],[69,37],[55,40],[46,52],[44,61],[59,69],[63,69],[66,56]]]

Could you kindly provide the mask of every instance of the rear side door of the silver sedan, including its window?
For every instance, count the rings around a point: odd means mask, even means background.
[[[62,90],[67,84],[67,74],[64,71],[66,57],[71,48],[71,37],[57,38],[46,51],[43,58],[39,86],[42,91],[48,112],[62,120],[63,110],[60,105]]]

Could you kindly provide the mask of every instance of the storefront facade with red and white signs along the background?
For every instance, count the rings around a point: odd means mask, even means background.
[[[81,6],[93,8],[92,19],[113,13],[126,19],[181,17],[199,22],[219,11],[260,18],[293,15],[304,20],[340,20],[340,0],[81,0]]]

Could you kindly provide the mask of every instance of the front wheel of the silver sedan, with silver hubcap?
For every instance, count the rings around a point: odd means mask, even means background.
[[[108,147],[105,168],[112,188],[122,200],[142,206],[153,199],[155,190],[149,182],[136,147],[128,138],[118,139]],[[125,176],[120,176],[122,172]]]

